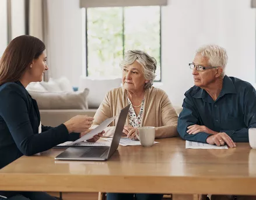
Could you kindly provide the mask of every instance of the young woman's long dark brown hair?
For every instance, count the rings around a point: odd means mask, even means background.
[[[44,42],[36,37],[21,35],[14,38],[0,59],[0,85],[18,81],[33,59],[44,50]]]

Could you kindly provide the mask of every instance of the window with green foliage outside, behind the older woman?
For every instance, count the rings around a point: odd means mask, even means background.
[[[124,52],[140,49],[156,59],[156,81],[161,80],[160,6],[87,8],[85,12],[87,76],[121,77]]]

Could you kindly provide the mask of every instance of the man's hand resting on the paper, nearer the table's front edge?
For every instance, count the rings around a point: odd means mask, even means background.
[[[217,146],[223,146],[225,143],[230,147],[236,147],[236,144],[226,133],[218,133],[215,135],[211,135],[206,139],[208,144],[216,144]]]

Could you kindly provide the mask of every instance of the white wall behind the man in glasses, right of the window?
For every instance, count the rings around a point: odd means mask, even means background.
[[[255,82],[255,9],[250,0],[171,0],[162,10],[163,89],[173,104],[193,85],[188,63],[204,44],[225,47],[228,76]]]

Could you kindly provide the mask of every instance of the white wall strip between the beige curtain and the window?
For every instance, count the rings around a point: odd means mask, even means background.
[[[66,76],[73,85],[78,85],[83,59],[82,9],[79,8],[79,0],[48,0],[47,8],[51,53],[47,56],[51,62],[51,77]]]

